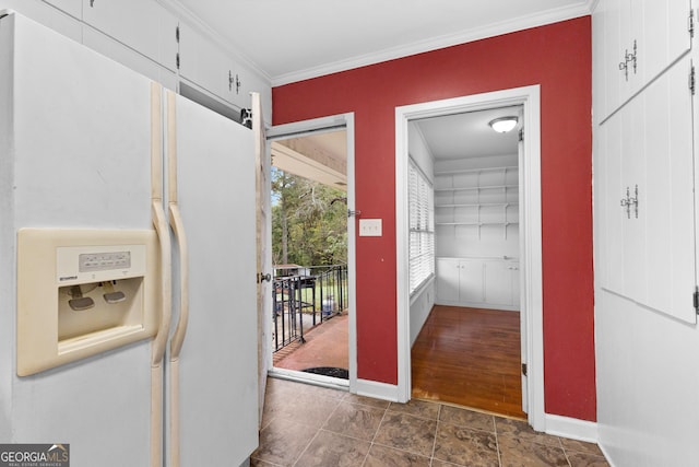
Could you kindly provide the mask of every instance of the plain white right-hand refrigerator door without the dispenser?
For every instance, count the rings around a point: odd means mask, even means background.
[[[166,102],[167,118],[174,115],[176,122],[168,124],[167,152],[177,153],[177,199],[189,252],[179,400],[170,399],[169,407],[170,422],[179,423],[179,454],[170,451],[170,458],[179,456],[182,466],[238,466],[258,446],[253,138],[185,97]],[[176,254],[175,270],[178,262]]]

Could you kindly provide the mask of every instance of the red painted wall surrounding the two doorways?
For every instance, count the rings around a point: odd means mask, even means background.
[[[358,377],[396,384],[395,107],[541,85],[546,412],[595,420],[589,16],[292,83],[274,124],[355,113]]]

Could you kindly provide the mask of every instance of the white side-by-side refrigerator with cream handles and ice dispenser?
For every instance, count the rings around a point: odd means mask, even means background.
[[[69,444],[72,467],[245,465],[258,445],[254,190],[250,130],[2,16],[0,444]],[[78,277],[54,270],[58,253],[20,275],[27,229],[80,233],[92,249],[73,249],[87,271],[91,258],[121,265],[123,254],[92,232],[157,238],[144,247],[157,264],[137,273],[139,293],[157,301],[134,299],[143,311],[123,322],[81,325],[110,313],[105,303],[117,310],[123,282],[57,283]],[[25,300],[48,305],[25,310]],[[49,363],[23,371],[37,348]]]

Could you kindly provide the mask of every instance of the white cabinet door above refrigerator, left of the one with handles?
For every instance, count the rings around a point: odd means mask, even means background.
[[[155,1],[83,0],[83,21],[169,70],[177,68],[177,17]]]

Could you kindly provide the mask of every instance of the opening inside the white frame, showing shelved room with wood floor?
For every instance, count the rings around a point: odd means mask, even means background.
[[[423,311],[429,313],[423,323],[417,314],[411,323],[413,332],[419,330],[412,336],[414,398],[525,417],[519,306],[522,129],[521,105],[408,124],[411,167],[420,164],[433,182],[435,260],[435,306]],[[426,156],[415,155],[420,153]],[[410,198],[412,214],[419,201],[412,192]]]

